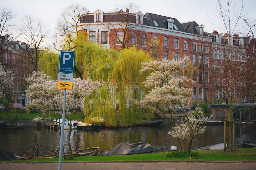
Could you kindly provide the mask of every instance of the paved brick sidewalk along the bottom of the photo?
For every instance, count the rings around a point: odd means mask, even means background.
[[[256,169],[256,162],[62,162],[62,170],[70,169],[111,169],[111,170],[208,170],[208,169],[225,169],[225,170],[236,170],[236,169]],[[56,170],[58,169],[58,162],[47,163],[47,162],[29,162],[29,163],[14,163],[14,162],[0,162],[0,169],[19,169],[19,170]]]

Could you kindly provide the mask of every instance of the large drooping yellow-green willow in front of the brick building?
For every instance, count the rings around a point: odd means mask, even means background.
[[[99,56],[94,56],[97,59],[89,59],[89,78],[104,79],[107,83],[91,95],[91,99],[86,99],[85,121],[101,116],[111,126],[129,126],[140,122],[142,109],[137,102],[146,93],[142,84],[146,75],[140,74],[140,69],[142,62],[151,60],[150,55],[134,46],[108,51],[106,58]]]

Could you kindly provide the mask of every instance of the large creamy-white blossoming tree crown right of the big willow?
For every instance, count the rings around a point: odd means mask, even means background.
[[[183,74],[188,72],[190,67],[191,63],[188,58],[179,61],[143,62],[140,73],[150,74],[144,85],[151,91],[141,103],[157,114],[165,116],[166,113],[170,113],[170,121],[172,122],[174,106],[177,104],[186,105],[191,101],[193,91],[190,86],[192,80]]]

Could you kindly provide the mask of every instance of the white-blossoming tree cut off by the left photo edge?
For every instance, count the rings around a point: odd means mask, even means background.
[[[9,105],[10,87],[13,82],[13,74],[0,63],[0,104],[3,103],[7,110]],[[7,112],[8,115],[8,112]]]

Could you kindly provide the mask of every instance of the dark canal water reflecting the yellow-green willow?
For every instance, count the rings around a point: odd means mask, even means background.
[[[227,129],[229,127],[227,126]],[[167,151],[171,146],[179,146],[177,139],[168,134],[172,130],[170,123],[163,123],[160,126],[132,126],[125,128],[99,128],[77,130],[71,133],[72,149],[100,147],[100,150],[109,150],[121,142],[146,141],[153,146],[164,146]],[[64,132],[64,149],[68,150],[67,136]],[[224,125],[207,125],[204,134],[197,136],[193,141],[192,148],[215,145],[223,143]],[[236,125],[236,138],[243,134],[256,133],[255,125]],[[39,143],[50,148],[59,150],[60,135],[55,129],[44,126],[24,127],[21,129],[0,129],[0,149],[12,151],[18,156],[24,156]],[[227,134],[227,141],[229,136]],[[229,148],[229,146],[228,146]],[[237,145],[236,145],[236,148]],[[40,148],[41,149],[41,148]],[[49,150],[49,149],[48,149]],[[39,150],[39,153],[43,150]],[[30,154],[31,155],[31,154]]]

